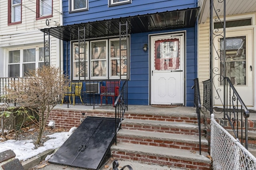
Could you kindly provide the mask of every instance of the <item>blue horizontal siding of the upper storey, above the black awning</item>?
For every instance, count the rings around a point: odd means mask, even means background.
[[[132,4],[112,7],[108,7],[108,0],[89,0],[88,11],[69,14],[68,5],[68,0],[63,0],[64,25],[197,7],[195,0],[133,0]]]

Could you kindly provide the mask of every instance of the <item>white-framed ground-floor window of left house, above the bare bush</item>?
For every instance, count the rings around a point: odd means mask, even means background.
[[[8,77],[24,77],[44,65],[44,47],[9,50]]]

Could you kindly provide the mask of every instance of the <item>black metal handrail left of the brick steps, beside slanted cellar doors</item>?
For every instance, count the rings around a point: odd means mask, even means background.
[[[122,88],[119,91],[119,95],[116,98],[115,107],[115,119],[116,119],[116,135],[121,126],[124,113],[128,110],[128,82],[125,80],[122,84]],[[116,137],[115,137],[116,138]]]

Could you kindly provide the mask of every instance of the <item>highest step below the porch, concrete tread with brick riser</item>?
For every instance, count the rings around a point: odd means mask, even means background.
[[[141,119],[124,119],[122,121],[122,129],[151,131],[160,133],[172,133],[180,135],[198,135],[198,125],[194,123],[180,123],[170,121],[152,121]],[[201,125],[201,129],[205,129]],[[204,130],[202,130],[202,135]]]

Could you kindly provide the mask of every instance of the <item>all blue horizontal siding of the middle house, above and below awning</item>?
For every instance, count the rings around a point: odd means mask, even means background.
[[[89,0],[89,10],[68,13],[68,0],[63,0],[63,23],[70,25],[88,21],[108,20],[127,16],[151,14],[156,12],[195,8],[197,0],[132,0],[132,4],[108,7],[108,0]],[[148,36],[154,33],[166,33],[186,30],[186,106],[194,105],[194,78],[197,76],[197,24],[187,29],[174,29],[130,35],[130,81],[128,81],[128,104],[149,104],[149,49],[143,51],[143,45],[149,45]],[[149,47],[150,48],[150,47]],[[66,71],[66,42],[64,42],[64,71]],[[68,42],[68,74],[70,75],[70,43]]]

